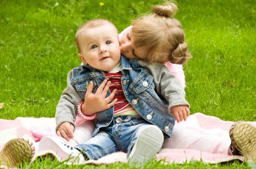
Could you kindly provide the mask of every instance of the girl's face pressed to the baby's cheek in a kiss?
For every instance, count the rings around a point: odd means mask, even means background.
[[[120,39],[121,53],[127,59],[145,59],[147,51],[142,48],[134,48],[134,39],[131,29],[127,30]]]

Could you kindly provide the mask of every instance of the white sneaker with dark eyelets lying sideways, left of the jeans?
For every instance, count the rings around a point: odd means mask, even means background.
[[[41,139],[38,146],[39,151],[49,151],[52,154],[54,152],[55,157],[61,161],[75,162],[83,164],[85,162],[84,156],[75,149],[73,146],[63,143],[58,137],[46,136]]]

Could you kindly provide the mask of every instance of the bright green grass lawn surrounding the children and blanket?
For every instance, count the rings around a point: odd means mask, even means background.
[[[99,3],[104,2],[104,6]],[[153,0],[1,0],[0,118],[54,117],[67,73],[80,64],[74,36],[93,18],[113,22],[119,31]],[[227,121],[256,121],[256,1],[178,0],[180,20],[193,55],[184,65],[191,113]],[[201,161],[143,168],[247,168],[248,163]],[[64,168],[50,158],[31,168]],[[82,166],[66,166],[82,168]],[[132,168],[116,163],[88,168]],[[23,168],[27,168],[26,164]]]

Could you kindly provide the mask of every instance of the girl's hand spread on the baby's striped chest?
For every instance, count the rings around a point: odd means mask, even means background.
[[[84,104],[81,106],[81,111],[84,115],[93,115],[93,113],[107,110],[116,104],[117,99],[109,103],[116,94],[116,89],[106,97],[108,93],[109,86],[111,85],[110,81],[106,79],[99,85],[96,93],[93,94],[93,82],[90,82],[90,85],[87,89],[87,92],[84,96]]]

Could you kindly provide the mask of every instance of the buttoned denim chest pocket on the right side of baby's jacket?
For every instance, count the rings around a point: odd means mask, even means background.
[[[132,87],[132,89],[137,94],[143,92],[144,90],[147,90],[148,88],[151,88],[152,90],[154,90],[153,80],[154,80],[153,76],[151,76],[151,74],[149,73],[146,73],[143,77],[137,80],[137,83],[134,85],[134,87]]]

